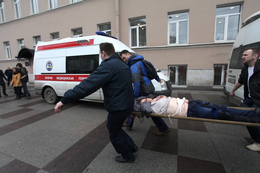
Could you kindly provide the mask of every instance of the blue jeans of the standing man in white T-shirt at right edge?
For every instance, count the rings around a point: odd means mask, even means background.
[[[257,104],[255,104],[251,97],[247,97],[241,107],[258,108]],[[246,128],[252,140],[254,140],[257,143],[260,143],[260,127],[246,126]]]

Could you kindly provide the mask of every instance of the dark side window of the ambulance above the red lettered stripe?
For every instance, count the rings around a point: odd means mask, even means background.
[[[66,74],[90,74],[99,66],[99,54],[66,57]]]

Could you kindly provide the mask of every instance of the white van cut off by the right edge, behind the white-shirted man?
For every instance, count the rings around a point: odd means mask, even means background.
[[[224,93],[229,96],[231,90],[239,79],[241,69],[244,67],[241,57],[247,48],[260,49],[260,11],[248,17],[242,24],[237,34],[227,68],[226,84],[224,85]],[[244,101],[244,86],[235,91],[235,97],[229,97],[229,100],[241,106]]]

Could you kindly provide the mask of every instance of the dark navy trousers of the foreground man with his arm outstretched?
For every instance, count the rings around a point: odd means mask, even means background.
[[[107,129],[110,141],[116,152],[122,154],[122,157],[125,159],[133,158],[131,149],[135,146],[132,138],[122,129],[125,119],[132,111],[133,107],[123,111],[108,113],[107,116]]]

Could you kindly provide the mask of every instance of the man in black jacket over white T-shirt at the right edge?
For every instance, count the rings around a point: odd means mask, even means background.
[[[242,107],[260,108],[260,60],[259,49],[248,48],[244,51],[242,61],[245,67],[241,70],[239,80],[232,89],[230,96],[235,96],[235,91],[244,84],[245,101]],[[254,141],[246,146],[249,150],[260,151],[260,127],[246,126]]]

